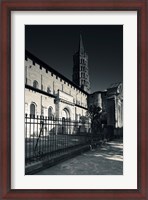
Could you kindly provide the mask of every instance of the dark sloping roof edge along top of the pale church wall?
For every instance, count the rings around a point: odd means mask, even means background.
[[[63,80],[65,80],[66,82],[68,82],[69,84],[71,84],[72,86],[74,86],[75,88],[77,88],[78,90],[80,90],[81,92],[83,92],[84,94],[86,94],[86,95],[89,94],[86,91],[82,90],[79,86],[77,86],[76,84],[74,84],[71,80],[69,80],[68,78],[66,78],[65,76],[63,76],[62,74],[60,74],[58,71],[56,71],[55,69],[53,69],[51,66],[49,66],[48,64],[46,64],[45,62],[43,62],[42,60],[40,60],[39,58],[37,58],[36,56],[34,56],[28,50],[25,50],[25,56],[28,56],[33,61],[35,61],[37,64],[41,65],[43,68],[45,68],[45,69],[53,72],[55,75],[59,76],[60,78],[62,78]]]

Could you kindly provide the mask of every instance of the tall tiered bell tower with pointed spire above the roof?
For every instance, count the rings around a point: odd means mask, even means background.
[[[90,93],[90,81],[88,73],[88,55],[85,52],[82,35],[80,34],[78,51],[73,55],[73,82]]]

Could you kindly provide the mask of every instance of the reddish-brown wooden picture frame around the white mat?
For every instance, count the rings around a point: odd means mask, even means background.
[[[11,189],[11,11],[137,11],[137,159],[138,186],[135,190],[12,190]],[[147,133],[147,0],[2,0],[0,73],[0,199],[148,199]],[[132,145],[132,144],[131,144]]]

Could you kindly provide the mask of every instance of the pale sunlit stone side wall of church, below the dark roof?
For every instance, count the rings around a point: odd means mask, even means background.
[[[49,69],[29,57],[25,59],[25,84],[31,86],[25,89],[25,113],[31,113],[33,104],[35,115],[48,116],[51,108],[57,118],[62,118],[64,109],[72,120],[85,116],[87,94]]]

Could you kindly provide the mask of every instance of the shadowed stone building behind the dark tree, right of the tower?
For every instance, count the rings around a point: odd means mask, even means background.
[[[123,84],[111,84],[106,91],[96,91],[88,96],[88,104],[100,107],[107,113],[107,125],[123,127]]]

